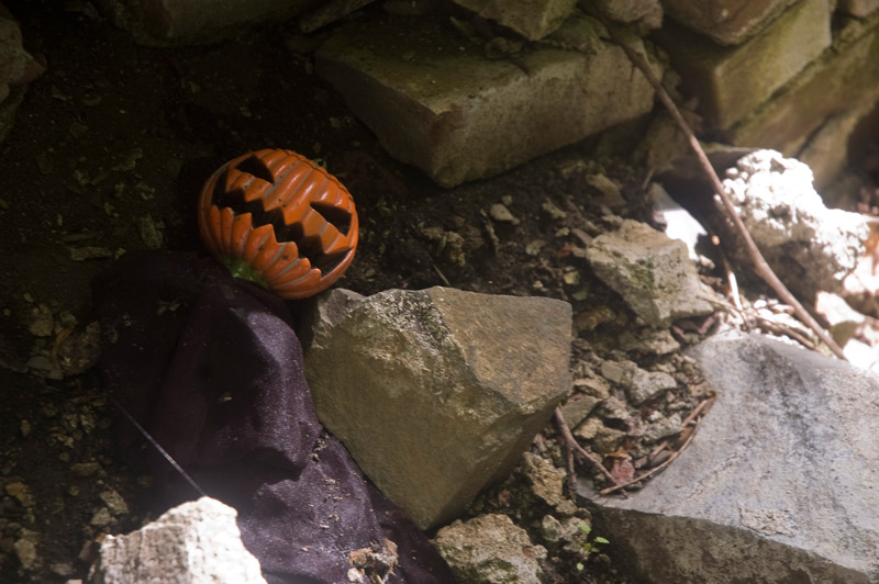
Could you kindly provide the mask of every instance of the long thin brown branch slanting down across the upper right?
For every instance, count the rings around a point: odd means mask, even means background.
[[[763,257],[763,254],[757,248],[757,245],[754,243],[754,239],[750,237],[750,233],[748,233],[747,227],[745,227],[745,224],[742,222],[742,217],[739,217],[738,213],[736,213],[735,206],[733,205],[733,201],[732,199],[730,199],[730,194],[726,192],[726,189],[723,187],[723,183],[721,183],[721,179],[717,177],[717,173],[714,172],[714,167],[711,166],[708,156],[705,156],[705,151],[699,144],[699,139],[696,137],[692,130],[690,130],[689,124],[687,124],[687,121],[683,120],[683,116],[680,114],[680,111],[678,110],[677,105],[675,105],[671,96],[668,94],[668,92],[663,87],[661,82],[659,82],[659,80],[653,74],[653,70],[647,65],[646,60],[644,60],[644,57],[642,57],[631,46],[628,46],[628,44],[620,37],[616,31],[607,22],[607,20],[601,14],[599,14],[594,10],[590,10],[590,7],[588,5],[587,2],[581,2],[581,5],[583,5],[583,8],[592,16],[598,19],[604,25],[604,27],[610,33],[611,38],[613,38],[613,42],[620,45],[620,48],[622,48],[625,52],[626,56],[628,57],[628,60],[632,61],[632,65],[637,67],[641,70],[641,72],[644,74],[644,77],[647,78],[647,81],[649,81],[654,90],[656,90],[656,94],[659,97],[659,100],[666,106],[669,114],[671,114],[671,117],[675,120],[675,123],[678,125],[680,131],[683,132],[683,134],[687,136],[687,139],[690,143],[690,147],[696,153],[696,156],[699,159],[702,169],[705,171],[705,175],[711,181],[711,187],[720,195],[721,201],[723,202],[723,207],[726,210],[726,214],[730,221],[733,222],[736,232],[742,237],[742,240],[745,244],[745,249],[747,250],[748,256],[752,262],[754,263],[754,269],[757,272],[757,276],[759,276],[763,279],[763,281],[769,285],[769,288],[775,290],[776,294],[778,294],[778,297],[781,299],[782,302],[793,307],[793,311],[797,313],[797,316],[803,323],[805,323],[809,326],[809,328],[815,332],[819,338],[831,349],[831,351],[833,351],[833,353],[836,357],[838,357],[843,361],[846,361],[847,359],[845,358],[845,353],[843,353],[843,350],[839,348],[838,345],[836,345],[836,341],[834,341],[833,338],[831,338],[831,336],[817,323],[817,321],[815,321],[812,317],[812,315],[809,314],[809,311],[806,311],[803,307],[803,305],[800,304],[800,301],[797,300],[797,297],[793,294],[791,294],[791,292],[781,282],[781,280],[778,279],[778,276],[776,276],[776,273],[772,271],[772,268],[769,267],[769,263],[766,261],[766,258]]]

